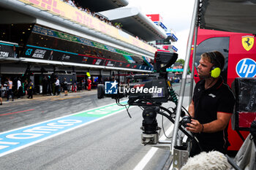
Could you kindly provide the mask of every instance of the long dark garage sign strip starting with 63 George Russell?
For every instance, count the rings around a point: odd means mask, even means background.
[[[121,67],[126,69],[140,69],[146,71],[152,69],[149,66],[141,66],[135,63],[124,63],[124,61],[114,61],[105,58],[97,58],[89,55],[69,53],[61,50],[53,50],[50,48],[37,47],[32,45],[26,46],[23,57],[47,61],[62,61],[70,63],[85,63],[97,66]]]

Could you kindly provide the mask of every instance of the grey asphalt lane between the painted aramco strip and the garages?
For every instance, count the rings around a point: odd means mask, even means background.
[[[14,101],[3,98],[3,105],[0,105],[0,132],[113,103],[106,99],[99,101],[96,94],[97,90],[83,90],[69,93],[68,96],[64,96],[64,93],[60,96],[34,95],[32,99],[24,96]]]

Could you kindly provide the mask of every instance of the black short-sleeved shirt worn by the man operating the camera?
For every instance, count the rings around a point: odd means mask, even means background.
[[[205,80],[200,80],[195,85],[193,96],[195,104],[195,120],[200,123],[210,123],[217,120],[217,112],[233,113],[235,98],[229,86],[222,77],[211,88],[205,89]],[[227,146],[227,128],[215,133],[196,134],[200,144],[212,146]]]

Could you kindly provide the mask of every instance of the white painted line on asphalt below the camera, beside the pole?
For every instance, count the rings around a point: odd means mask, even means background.
[[[188,109],[188,106],[186,107],[186,109]],[[168,128],[167,131],[165,132],[165,134],[167,136],[169,136],[170,134],[173,133],[173,126],[174,126],[174,124],[170,125],[170,128]],[[165,139],[167,139],[167,138],[163,134],[159,140],[165,140]],[[157,152],[157,150],[159,150],[159,148],[157,148],[157,147],[152,147],[150,150],[148,150],[146,155],[141,159],[141,161],[137,164],[137,166],[135,166],[135,168],[133,170],[144,169],[145,166],[148,164],[148,162],[151,160],[151,158],[154,156],[154,154]]]

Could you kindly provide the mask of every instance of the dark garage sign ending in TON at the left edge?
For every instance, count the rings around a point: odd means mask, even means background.
[[[16,46],[8,43],[0,42],[0,57],[17,58]]]

